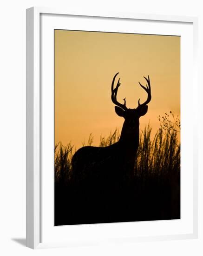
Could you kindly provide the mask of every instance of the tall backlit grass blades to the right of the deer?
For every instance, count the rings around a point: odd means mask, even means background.
[[[177,131],[164,132],[160,128],[151,139],[152,128],[148,125],[141,134],[135,175],[169,175],[180,171],[180,143]]]

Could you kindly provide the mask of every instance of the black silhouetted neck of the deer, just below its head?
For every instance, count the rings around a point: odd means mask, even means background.
[[[122,144],[122,147],[125,151],[137,151],[139,145],[139,120],[136,123],[135,128],[131,129],[124,121],[124,125],[121,131],[119,144]]]

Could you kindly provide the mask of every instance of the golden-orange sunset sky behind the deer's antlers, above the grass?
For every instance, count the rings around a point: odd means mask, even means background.
[[[111,101],[111,81],[119,72],[117,99],[128,108],[144,102],[151,80],[151,102],[140,118],[140,129],[149,122],[155,133],[158,115],[173,111],[180,116],[180,37],[55,30],[55,143],[82,147],[90,133],[97,146],[100,135],[109,135],[124,119]],[[117,80],[116,80],[117,82]],[[115,82],[115,86],[116,86]]]

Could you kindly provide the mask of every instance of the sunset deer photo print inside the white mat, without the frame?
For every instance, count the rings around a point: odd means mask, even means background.
[[[54,225],[180,219],[180,37],[54,30]]]

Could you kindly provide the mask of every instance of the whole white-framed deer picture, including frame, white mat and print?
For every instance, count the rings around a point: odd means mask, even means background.
[[[197,19],[26,15],[26,244],[196,238]]]

